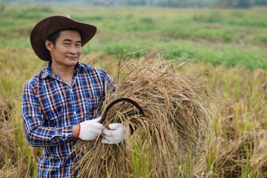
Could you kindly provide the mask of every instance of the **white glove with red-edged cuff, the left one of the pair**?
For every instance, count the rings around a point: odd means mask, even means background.
[[[93,140],[102,132],[105,127],[98,123],[101,118],[98,117],[94,120],[86,120],[79,123],[79,134],[78,137],[82,140]]]

